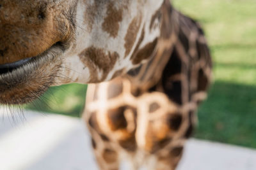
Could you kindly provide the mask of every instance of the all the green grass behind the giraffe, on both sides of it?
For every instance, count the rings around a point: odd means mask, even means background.
[[[255,0],[173,0],[173,4],[201,22],[214,59],[214,83],[198,111],[196,138],[256,148]],[[77,117],[85,94],[85,85],[52,87],[42,97],[45,104],[28,108]]]

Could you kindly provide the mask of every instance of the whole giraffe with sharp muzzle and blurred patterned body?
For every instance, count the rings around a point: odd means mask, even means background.
[[[0,25],[1,104],[89,83],[83,119],[100,169],[175,169],[211,81],[197,22],[168,0],[3,0]]]

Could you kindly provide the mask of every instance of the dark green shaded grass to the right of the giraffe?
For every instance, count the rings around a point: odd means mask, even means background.
[[[196,138],[256,148],[256,86],[216,81],[198,119]]]

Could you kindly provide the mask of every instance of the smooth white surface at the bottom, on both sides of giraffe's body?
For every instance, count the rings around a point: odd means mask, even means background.
[[[19,113],[20,114],[20,113]],[[14,118],[12,118],[12,115]],[[0,110],[1,170],[96,170],[79,118]],[[256,151],[190,139],[178,170],[255,170]]]

